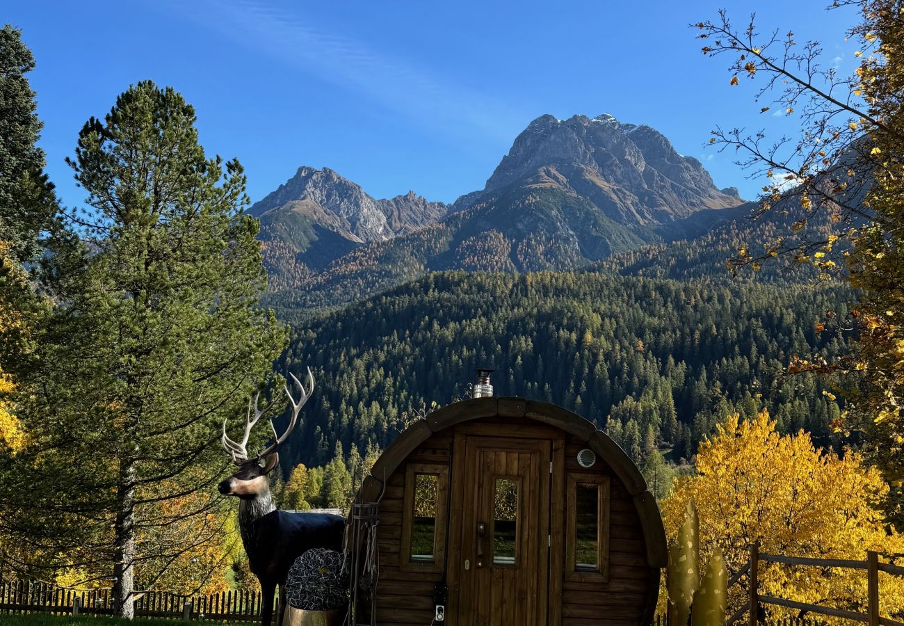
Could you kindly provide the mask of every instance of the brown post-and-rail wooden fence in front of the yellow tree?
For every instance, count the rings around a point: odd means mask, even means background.
[[[808,604],[806,602],[796,602],[786,600],[785,598],[776,598],[771,595],[763,595],[759,593],[759,563],[765,561],[767,563],[779,563],[786,565],[806,565],[814,567],[837,567],[841,569],[863,570],[866,572],[867,582],[867,612],[849,611],[847,609],[839,609],[831,606],[822,606],[819,604]],[[880,593],[879,593],[879,573],[904,575],[904,567],[893,565],[890,563],[882,563],[880,555],[876,552],[868,552],[866,560],[856,561],[848,559],[822,559],[822,558],[804,558],[799,556],[783,556],[783,555],[767,555],[759,552],[757,545],[750,548],[750,558],[740,571],[732,576],[729,581],[729,587],[738,584],[745,574],[748,575],[748,602],[740,607],[728,621],[726,626],[732,626],[747,614],[749,626],[757,626],[759,617],[759,608],[762,604],[772,604],[787,609],[795,609],[800,614],[815,613],[816,615],[827,615],[829,617],[840,617],[845,620],[862,621],[870,626],[904,626],[904,621],[892,620],[880,615]],[[890,607],[889,607],[890,608]],[[899,608],[899,607],[895,607]]]

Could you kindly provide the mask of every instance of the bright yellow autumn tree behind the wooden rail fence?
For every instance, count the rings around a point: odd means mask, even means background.
[[[721,550],[730,574],[749,559],[749,546],[777,555],[864,560],[868,550],[904,553],[873,506],[888,491],[877,470],[851,451],[815,448],[810,435],[782,436],[766,412],[749,421],[736,414],[704,441],[697,472],[678,479],[662,508],[667,536],[675,536],[693,499],[700,516],[700,560]],[[888,559],[885,559],[888,561]],[[900,619],[904,580],[882,574],[882,612]],[[735,586],[730,610],[740,605]],[[760,563],[759,593],[865,612],[863,571]],[[791,612],[771,607],[774,616]]]

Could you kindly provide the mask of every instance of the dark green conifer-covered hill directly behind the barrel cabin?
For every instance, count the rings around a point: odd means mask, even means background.
[[[431,274],[294,329],[279,366],[311,365],[320,393],[286,467],[329,460],[336,441],[385,447],[423,403],[466,394],[478,365],[496,367],[496,394],[564,405],[637,459],[690,459],[727,414],[763,407],[827,443],[839,407],[824,383],[777,376],[793,355],[843,351],[814,326],[851,300],[837,286]]]

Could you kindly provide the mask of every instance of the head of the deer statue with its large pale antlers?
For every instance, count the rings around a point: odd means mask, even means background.
[[[268,420],[270,422],[270,428],[273,429],[274,440],[267,448],[258,452],[256,456],[251,457],[246,450],[251,429],[254,428],[254,425],[258,423],[261,416],[267,413],[276,401],[268,403],[263,409],[259,409],[258,406],[260,394],[255,395],[253,400],[248,401],[248,415],[245,418],[245,434],[241,441],[232,441],[229,438],[229,435],[226,434],[226,421],[223,420],[221,442],[223,448],[231,454],[232,461],[239,466],[239,470],[217,486],[221,494],[226,496],[238,496],[241,499],[255,499],[269,492],[269,480],[267,475],[279,462],[277,448],[279,447],[279,444],[286,441],[289,433],[295,428],[301,407],[305,405],[307,399],[310,398],[311,394],[314,392],[314,375],[311,374],[310,367],[307,368],[307,377],[310,382],[310,389],[308,390],[305,389],[305,386],[301,384],[294,374],[290,373],[289,376],[291,376],[301,397],[296,401],[292,396],[292,392],[289,391],[288,384],[286,384],[284,390],[288,397],[289,404],[292,405],[292,418],[288,422],[286,432],[283,432],[281,435],[277,434],[277,429],[276,426],[273,425],[273,421]]]

